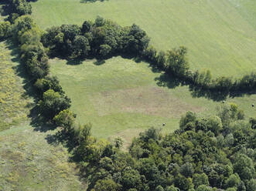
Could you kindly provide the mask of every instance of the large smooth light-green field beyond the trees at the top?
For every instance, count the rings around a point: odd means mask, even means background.
[[[157,49],[189,49],[192,69],[213,76],[241,76],[256,70],[254,0],[43,0],[32,3],[32,17],[43,29],[78,24],[97,15],[120,25],[141,26]]]

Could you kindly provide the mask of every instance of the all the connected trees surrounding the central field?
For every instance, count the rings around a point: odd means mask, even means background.
[[[186,112],[179,129],[169,135],[152,127],[123,152],[121,139],[97,140],[91,136],[90,125],[77,125],[76,115],[69,110],[70,99],[58,79],[49,75],[48,58],[131,55],[183,82],[216,92],[253,91],[255,73],[241,79],[212,79],[210,71],[192,72],[185,47],[157,51],[138,25],[121,27],[98,17],[81,26],[54,26],[43,32],[29,16],[29,2],[10,0],[9,9],[8,21],[0,23],[0,39],[19,45],[22,65],[37,92],[39,118],[62,127],[89,190],[256,190],[256,118],[244,119],[244,112],[234,103],[223,103],[216,116]]]

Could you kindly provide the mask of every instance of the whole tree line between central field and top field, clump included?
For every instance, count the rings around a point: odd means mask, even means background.
[[[149,46],[150,39],[138,25],[120,25],[97,17],[95,22],[85,21],[79,25],[61,25],[46,30],[42,36],[43,45],[51,56],[66,58],[108,59],[113,55],[128,54],[147,60],[167,75],[174,75],[181,82],[211,92],[251,92],[256,89],[256,73],[240,79],[221,76],[213,79],[209,70],[189,70],[186,47],[167,52],[157,51]]]

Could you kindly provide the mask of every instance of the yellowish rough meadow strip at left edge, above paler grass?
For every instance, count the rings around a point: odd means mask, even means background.
[[[5,42],[0,42],[0,132],[26,121],[32,104],[22,88],[22,78],[16,75],[14,56]]]

